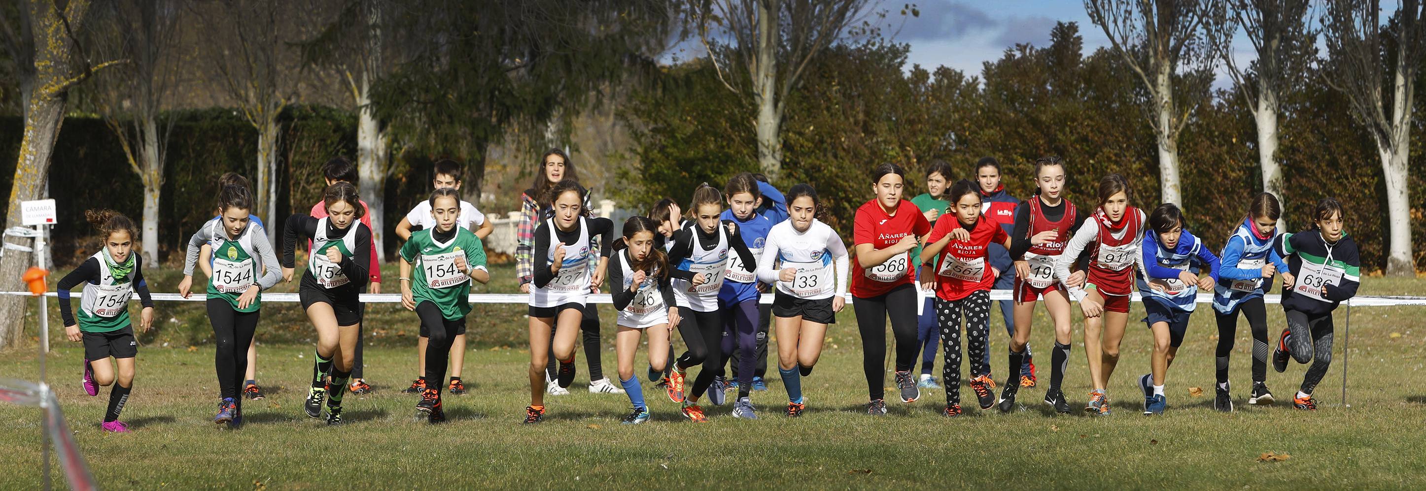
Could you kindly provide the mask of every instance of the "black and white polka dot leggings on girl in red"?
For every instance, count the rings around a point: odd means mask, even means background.
[[[960,300],[935,299],[935,317],[941,324],[941,346],[945,350],[945,403],[961,403],[961,317],[965,319],[967,356],[971,360],[971,377],[990,374],[985,360],[987,337],[990,336],[990,292],[971,293]]]

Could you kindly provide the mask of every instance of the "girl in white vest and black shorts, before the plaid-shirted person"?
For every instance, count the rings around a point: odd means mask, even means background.
[[[585,319],[589,293],[605,282],[609,245],[615,223],[607,218],[586,218],[585,189],[572,179],[550,188],[549,206],[555,216],[535,231],[535,279],[530,283],[530,406],[525,423],[545,417],[545,364],[550,354],[559,361],[556,383],[575,380],[575,332]],[[597,266],[590,241],[599,236]],[[553,336],[552,336],[553,333]],[[426,353],[426,363],[431,353]]]

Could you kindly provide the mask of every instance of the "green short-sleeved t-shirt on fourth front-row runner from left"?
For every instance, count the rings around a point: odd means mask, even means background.
[[[411,233],[411,241],[401,246],[401,259],[412,263],[411,296],[416,305],[435,303],[448,320],[471,313],[471,278],[459,272],[455,258],[465,255],[469,269],[485,270],[485,245],[473,232],[458,228],[449,242],[441,243],[431,236],[432,229]]]

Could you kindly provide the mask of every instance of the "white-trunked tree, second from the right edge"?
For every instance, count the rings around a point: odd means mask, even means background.
[[[1258,54],[1239,67],[1229,50],[1224,63],[1258,125],[1258,164],[1262,191],[1282,199],[1282,165],[1278,164],[1278,110],[1282,95],[1305,78],[1316,56],[1318,33],[1308,20],[1310,0],[1233,0],[1232,10]]]

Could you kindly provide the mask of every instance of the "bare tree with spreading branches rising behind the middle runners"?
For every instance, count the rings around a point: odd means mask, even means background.
[[[863,21],[867,0],[700,0],[697,30],[723,87],[757,107],[757,162],[776,179],[783,165],[787,95],[813,58]],[[911,11],[915,14],[915,11]],[[724,37],[726,41],[719,40]],[[737,71],[734,71],[737,70]],[[746,78],[744,78],[746,77]]]

